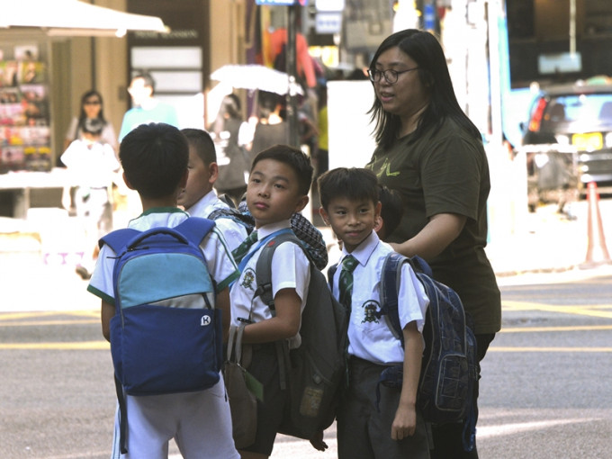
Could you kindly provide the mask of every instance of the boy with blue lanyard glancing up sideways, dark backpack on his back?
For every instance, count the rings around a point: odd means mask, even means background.
[[[253,160],[247,184],[247,206],[255,219],[257,242],[245,256],[235,255],[241,271],[230,292],[231,324],[245,326],[243,343],[252,345],[248,372],[264,386],[264,401],[257,401],[257,437],[240,451],[242,459],[264,459],[272,454],[283,420],[288,391],[281,389],[276,342],[300,345],[300,323],[311,282],[310,261],[293,242],[276,248],[272,258],[272,294],[275,316],[256,295],[257,259],[260,248],[279,231],[291,230],[293,212],[308,203],[313,169],[301,150],[276,145]],[[254,231],[255,232],[255,231]],[[241,251],[238,251],[241,252]],[[237,254],[237,252],[234,252]]]

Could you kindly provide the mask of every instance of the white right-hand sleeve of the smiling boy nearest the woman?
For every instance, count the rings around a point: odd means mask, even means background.
[[[401,328],[403,329],[411,321],[416,320],[417,329],[422,333],[429,299],[425,293],[425,287],[420,283],[419,278],[408,263],[401,267],[401,284],[398,298]]]

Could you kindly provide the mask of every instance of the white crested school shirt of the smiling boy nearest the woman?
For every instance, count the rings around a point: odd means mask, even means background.
[[[398,365],[404,361],[401,341],[395,338],[387,321],[376,319],[374,312],[380,311],[379,286],[383,274],[385,257],[393,251],[389,244],[378,238],[375,231],[365,238],[351,254],[342,249],[342,257],[333,279],[333,293],[339,298],[339,277],[342,260],[352,255],[359,262],[353,271],[353,293],[351,295],[351,317],[348,322],[348,354],[363,358],[378,365]],[[428,296],[409,265],[401,268],[401,284],[398,294],[398,313],[401,328],[416,320],[422,333]]]

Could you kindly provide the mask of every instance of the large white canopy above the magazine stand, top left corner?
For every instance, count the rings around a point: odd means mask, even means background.
[[[126,31],[168,31],[157,16],[130,14],[77,0],[0,0],[0,8],[0,31],[40,28],[52,36],[122,36]]]

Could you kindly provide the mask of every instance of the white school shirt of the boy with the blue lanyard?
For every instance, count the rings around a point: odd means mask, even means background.
[[[244,320],[260,322],[272,319],[272,312],[267,305],[261,301],[261,297],[254,298],[257,289],[255,268],[257,260],[261,255],[259,242],[266,236],[279,229],[291,228],[290,220],[273,223],[257,229],[257,242],[249,249],[249,254],[255,252],[248,260],[238,280],[231,286],[229,291],[229,302],[231,303],[231,324],[239,326]],[[275,250],[272,257],[272,296],[276,296],[280,290],[286,288],[295,289],[302,300],[300,313],[304,310],[308,297],[308,287],[311,284],[311,265],[302,247],[293,242],[285,242]],[[300,334],[290,339],[289,347],[299,347],[302,342]]]

